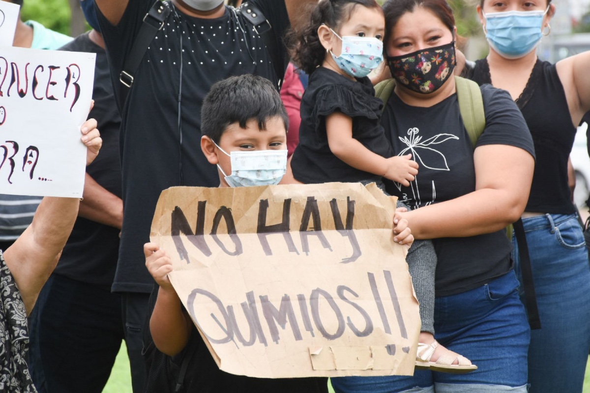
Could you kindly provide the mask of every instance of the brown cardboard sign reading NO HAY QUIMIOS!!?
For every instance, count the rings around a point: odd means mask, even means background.
[[[222,370],[411,375],[420,320],[394,210],[375,184],[173,187],[151,238]]]

